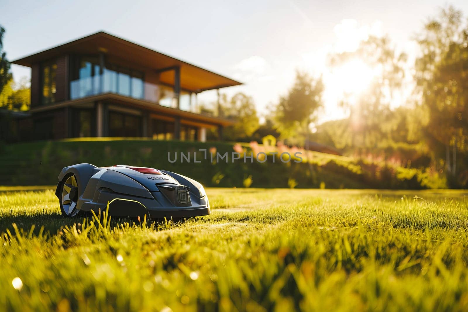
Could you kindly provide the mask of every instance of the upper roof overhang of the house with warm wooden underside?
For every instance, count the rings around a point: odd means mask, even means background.
[[[132,43],[103,31],[61,44],[13,61],[13,64],[31,67],[34,63],[56,58],[67,53],[98,54],[103,52],[112,61],[125,61],[126,64],[161,73],[162,83],[174,85],[174,75],[167,72],[171,68],[180,68],[181,88],[191,92],[239,86],[242,83],[213,73],[204,68],[170,57],[139,44]]]

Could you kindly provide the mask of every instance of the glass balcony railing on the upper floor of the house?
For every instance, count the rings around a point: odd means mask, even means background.
[[[75,100],[97,94],[114,93],[165,107],[176,108],[176,99],[172,87],[145,82],[129,76],[118,78],[113,73],[103,73],[102,75],[73,80],[70,82],[70,99]],[[189,93],[182,92],[179,98],[179,109],[199,113],[199,109],[193,105],[193,102]]]

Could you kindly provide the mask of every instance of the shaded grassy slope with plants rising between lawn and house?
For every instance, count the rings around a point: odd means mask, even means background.
[[[40,141],[0,146],[0,185],[51,185],[57,183],[57,175],[63,167],[77,163],[91,163],[98,167],[115,164],[155,167],[194,177],[205,186],[242,187],[244,179],[252,177],[252,187],[287,188],[292,179],[298,188],[327,189],[375,188],[375,189],[438,189],[446,188],[446,181],[437,173],[422,169],[389,167],[384,163],[365,163],[348,157],[310,152],[311,164],[287,163],[272,157],[264,163],[211,163],[199,149],[215,148],[223,155],[232,153],[234,143],[229,142],[180,142],[138,139],[119,140],[99,138],[86,140]],[[249,144],[243,147],[250,154]],[[169,163],[176,152],[190,152],[191,163]],[[293,153],[292,153],[293,154]],[[231,157],[231,156],[230,156]],[[305,153],[303,154],[304,159]]]

